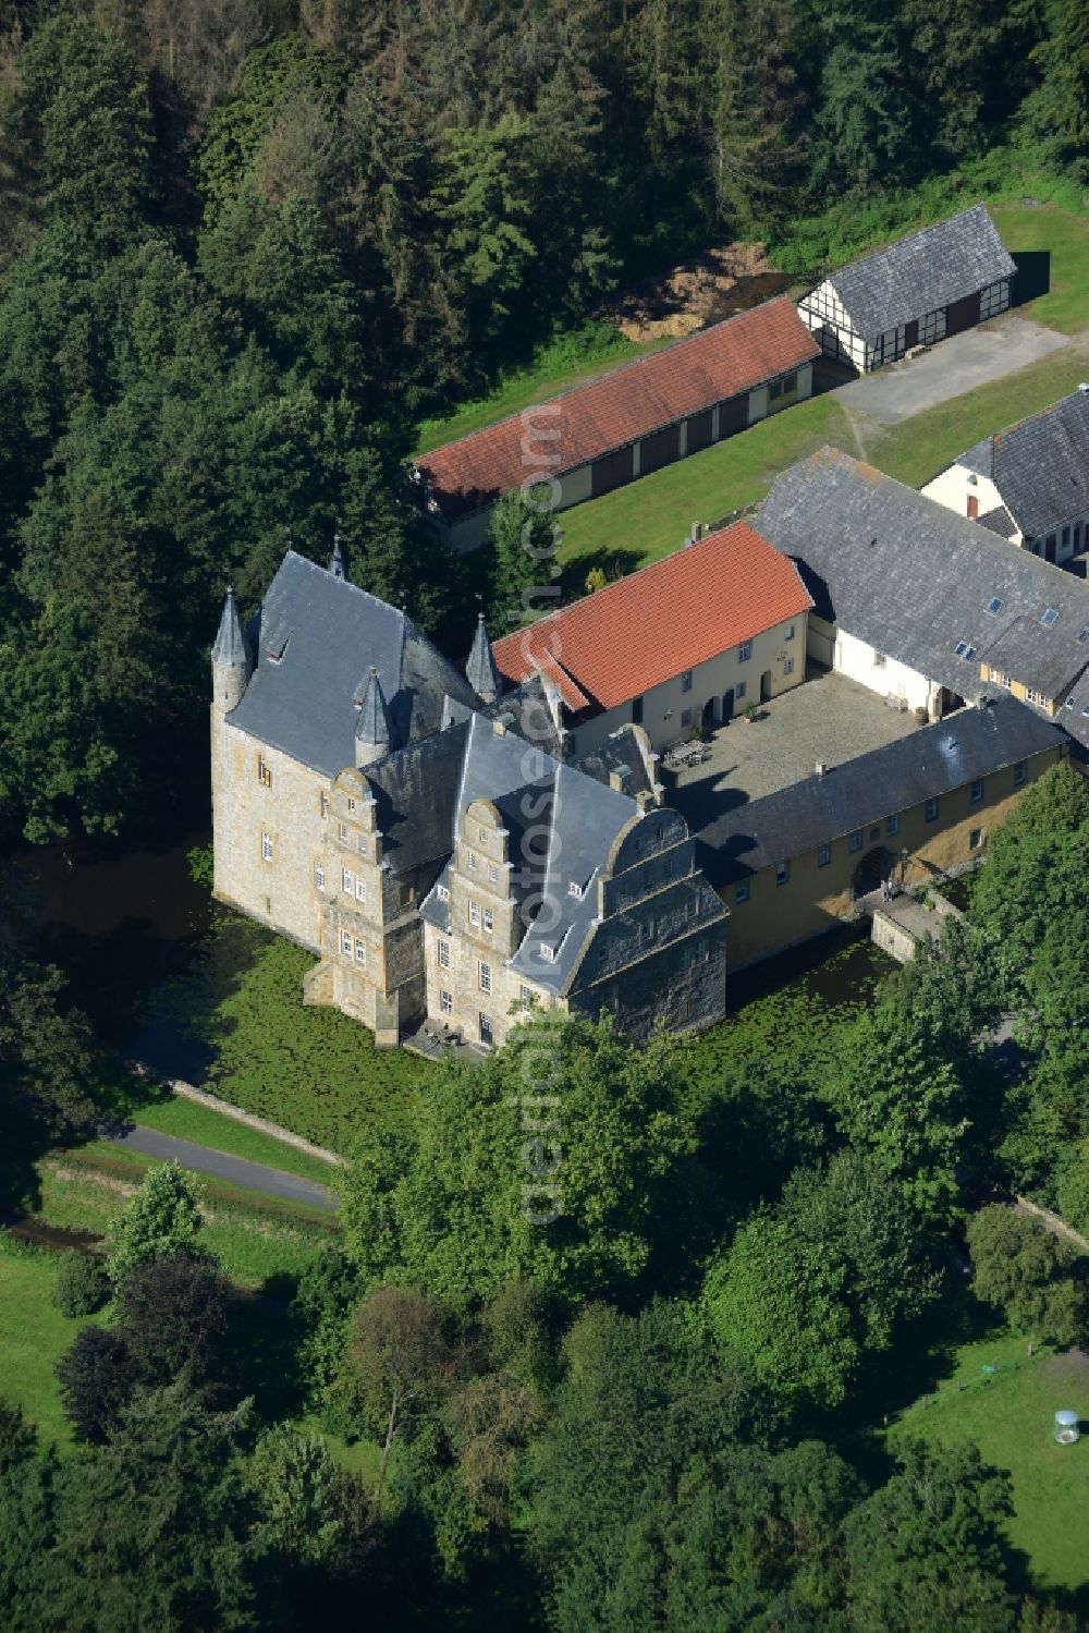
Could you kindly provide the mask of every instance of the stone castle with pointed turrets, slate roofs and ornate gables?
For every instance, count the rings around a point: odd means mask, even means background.
[[[637,725],[575,759],[540,676],[500,697],[411,619],[287,552],[212,648],[216,895],[318,959],[305,999],[395,1045],[531,1009],[633,1035],[725,1012],[727,911]]]

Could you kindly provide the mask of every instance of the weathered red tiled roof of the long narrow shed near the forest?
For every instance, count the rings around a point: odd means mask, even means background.
[[[820,346],[793,302],[780,296],[599,380],[575,385],[532,412],[436,447],[416,461],[416,469],[447,514],[478,509],[521,487],[527,475],[573,470],[816,356]]]

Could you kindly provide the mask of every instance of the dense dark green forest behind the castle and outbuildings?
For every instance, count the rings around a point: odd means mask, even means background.
[[[3,0],[3,830],[201,782],[219,601],[289,539],[457,652],[421,415],[700,245],[1081,175],[1087,83],[1078,0]]]

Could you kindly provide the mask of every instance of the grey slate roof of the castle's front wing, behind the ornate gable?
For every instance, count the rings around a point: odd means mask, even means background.
[[[540,928],[536,923],[527,926],[509,968],[522,972],[527,981],[563,993],[598,911],[596,890],[586,888],[580,898],[570,895],[568,883],[575,880],[589,887],[614,839],[637,815],[637,805],[552,754],[527,750],[514,733],[496,733],[483,715],[473,715],[454,730],[464,730],[467,740],[446,849],[454,848],[454,823],[465,807],[475,799],[491,800],[508,828],[511,851],[522,859],[522,901],[539,892],[547,898],[539,916]],[[545,830],[547,846],[536,831],[532,844],[524,844],[531,826]],[[444,869],[436,883],[446,880]],[[421,903],[420,913],[429,923],[449,928],[449,903],[439,900],[438,888]],[[557,949],[555,962],[542,959],[542,941]]]

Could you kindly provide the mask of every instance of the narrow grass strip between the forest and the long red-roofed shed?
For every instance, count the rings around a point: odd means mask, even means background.
[[[504,379],[473,402],[462,403],[439,420],[424,420],[416,433],[416,454],[454,443],[485,425],[504,420],[529,403],[555,397],[580,380],[607,374],[647,351],[658,351],[665,340],[625,340],[611,323],[588,323],[573,335],[560,335],[542,346],[532,363],[511,369]]]

